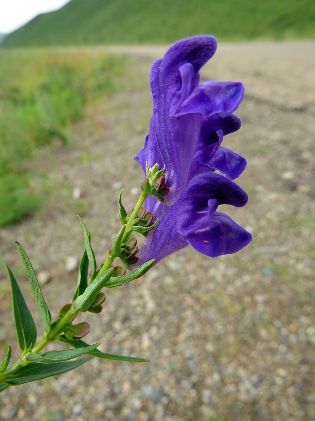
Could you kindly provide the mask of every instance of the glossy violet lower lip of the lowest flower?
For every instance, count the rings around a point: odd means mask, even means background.
[[[215,212],[185,239],[200,253],[217,257],[236,253],[252,241],[252,236],[225,213]]]

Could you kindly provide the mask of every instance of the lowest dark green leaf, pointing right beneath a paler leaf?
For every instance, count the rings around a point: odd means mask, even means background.
[[[29,381],[40,380],[42,378],[56,376],[57,374],[66,373],[67,371],[73,370],[79,365],[84,364],[89,360],[92,360],[93,356],[81,358],[74,361],[57,362],[56,364],[40,364],[38,362],[30,362],[24,367],[20,367],[15,375],[18,377],[9,378],[6,382],[10,385],[24,384]]]

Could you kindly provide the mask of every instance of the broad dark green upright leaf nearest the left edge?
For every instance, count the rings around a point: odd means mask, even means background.
[[[13,273],[7,265],[5,266],[9,272],[11,281],[14,322],[18,335],[18,344],[24,352],[32,348],[36,342],[36,326]]]

